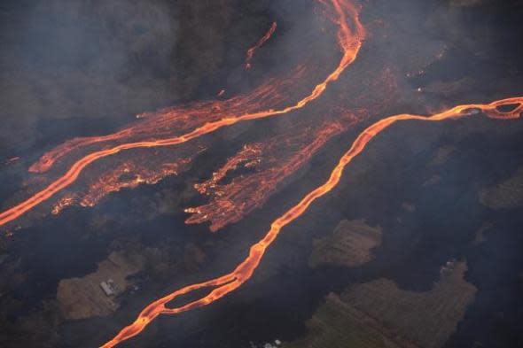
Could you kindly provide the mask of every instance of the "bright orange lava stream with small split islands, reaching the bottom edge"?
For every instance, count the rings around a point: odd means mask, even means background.
[[[500,110],[502,107],[508,107],[511,110],[503,112]],[[340,178],[345,167],[363,151],[367,143],[369,143],[376,135],[379,135],[379,133],[393,125],[395,122],[402,120],[441,121],[459,119],[479,114],[480,112],[485,113],[489,118],[492,119],[518,119],[523,113],[523,97],[512,97],[498,100],[491,104],[458,105],[445,112],[433,114],[430,117],[403,113],[387,117],[386,119],[379,120],[378,122],[372,124],[369,128],[363,130],[363,132],[356,137],[355,142],[352,144],[350,149],[348,149],[348,151],[341,157],[338,165],[335,166],[332,170],[329,179],[324,182],[323,185],[310,191],[305,197],[301,199],[297,205],[294,205],[291,209],[274,220],[270,224],[270,229],[267,234],[262,238],[262,240],[251,246],[246,259],[244,259],[244,261],[240,263],[238,267],[236,267],[232,272],[227,275],[222,275],[221,277],[211,279],[207,282],[199,282],[197,284],[186,286],[152,302],[151,305],[147,305],[145,309],[138,315],[136,321],[134,321],[128,327],[122,329],[118,335],[114,336],[111,341],[105,343],[103,347],[113,347],[116,344],[120,344],[122,341],[128,340],[133,336],[137,336],[152,320],[154,320],[160,314],[182,313],[193,308],[210,305],[216,300],[229,294],[231,291],[238,289],[239,286],[241,286],[254,274],[254,270],[260,264],[263,254],[267,248],[269,248],[269,245],[276,240],[281,229],[289,223],[293,222],[293,220],[298,219],[301,214],[305,213],[308,209],[308,206],[311,205],[317,198],[323,197],[325,194],[334,189],[340,182]],[[168,303],[173,301],[175,298],[179,298],[180,296],[195,290],[207,288],[213,290],[211,290],[205,297],[193,300],[186,305],[181,305],[176,308],[168,308],[167,306]]]

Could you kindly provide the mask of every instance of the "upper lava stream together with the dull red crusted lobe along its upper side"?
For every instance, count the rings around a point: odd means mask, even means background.
[[[220,102],[197,103],[195,105],[175,108],[168,112],[160,112],[160,116],[156,118],[151,118],[149,115],[144,114],[144,122],[139,123],[137,127],[125,128],[113,135],[78,138],[66,142],[63,146],[59,146],[57,149],[45,154],[42,159],[30,167],[30,171],[34,173],[46,172],[54,165],[57,159],[60,159],[66,153],[93,143],[104,143],[109,140],[125,140],[129,137],[135,139],[137,137],[139,138],[140,135],[148,135],[147,132],[150,131],[150,129],[155,130],[153,139],[144,138],[144,140],[119,143],[113,147],[91,151],[81,159],[78,159],[69,167],[66,174],[59,176],[59,178],[51,182],[49,186],[36,192],[32,197],[29,197],[19,205],[15,205],[11,209],[4,211],[4,213],[0,213],[0,226],[19,218],[36,205],[42,204],[44,201],[76,182],[82,171],[99,159],[104,159],[130,149],[150,149],[187,143],[202,135],[207,135],[217,129],[231,126],[240,121],[258,120],[297,111],[322,96],[325,89],[327,89],[333,81],[337,81],[341,73],[347,69],[347,66],[355,61],[365,37],[365,29],[359,19],[359,7],[356,7],[351,2],[347,0],[332,0],[332,4],[327,4],[327,2],[324,1],[319,1],[319,3],[325,6],[325,17],[332,20],[332,22],[338,26],[337,42],[340,45],[342,55],[335,69],[329,73],[323,81],[316,84],[306,97],[302,97],[295,104],[281,108],[269,108],[262,109],[262,111],[248,112],[249,110],[263,107],[266,101],[273,102],[275,97],[274,93],[271,92],[275,86],[272,86],[271,82],[274,83],[276,87],[278,85],[284,85],[284,87],[289,88],[289,83],[286,81],[269,81],[268,84],[262,86],[260,89],[255,89],[253,94],[232,98],[222,104],[220,104]],[[302,69],[299,67],[296,71],[299,74]],[[281,98],[283,95],[284,94],[281,93],[276,94],[276,99]],[[191,126],[194,127],[199,123],[203,124],[196,128],[191,128]],[[161,136],[168,134],[173,128],[177,130],[187,129],[187,133],[166,138]],[[164,133],[162,133],[162,129]],[[71,201],[72,200],[68,200],[67,202]]]

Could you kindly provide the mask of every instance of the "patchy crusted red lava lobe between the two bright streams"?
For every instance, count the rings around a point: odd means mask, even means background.
[[[206,205],[185,209],[185,213],[192,214],[185,223],[210,221],[210,230],[216,232],[230,223],[238,222],[247,213],[265,204],[280,182],[307,163],[334,135],[346,129],[347,124],[324,122],[319,127],[305,128],[295,134],[277,135],[262,143],[246,146],[215,172],[212,178],[195,185],[195,189],[209,196],[210,201]],[[298,150],[285,151],[294,147],[298,147]],[[262,158],[266,152],[280,155]],[[230,183],[222,183],[223,178],[238,166],[256,171],[249,175],[238,175]]]

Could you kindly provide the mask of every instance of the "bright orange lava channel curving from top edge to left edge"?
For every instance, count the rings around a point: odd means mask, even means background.
[[[326,5],[324,1],[320,1],[320,3]],[[338,66],[332,71],[332,73],[330,73],[324,79],[324,81],[317,84],[316,87],[310,92],[310,94],[308,94],[307,97],[301,98],[296,104],[286,106],[277,110],[269,109],[261,112],[244,113],[240,114],[239,116],[227,116],[220,120],[210,121],[204,124],[203,126],[194,128],[189,133],[186,133],[184,135],[178,135],[175,137],[160,140],[144,140],[133,143],[121,143],[112,148],[100,151],[93,151],[90,154],[84,156],[82,159],[77,160],[67,170],[66,174],[63,174],[61,177],[59,177],[59,179],[52,182],[45,189],[37,192],[34,196],[29,197],[25,202],[22,202],[19,205],[16,205],[11,209],[8,209],[4,213],[0,213],[0,226],[3,226],[8,222],[17,219],[23,213],[26,213],[27,211],[31,210],[36,205],[40,205],[42,202],[53,197],[60,190],[65,189],[66,187],[71,185],[73,182],[77,180],[78,176],[82,173],[85,167],[90,166],[90,164],[97,161],[98,159],[103,159],[105,157],[112,156],[116,153],[129,149],[172,146],[180,143],[186,143],[192,139],[198,138],[201,135],[207,135],[219,128],[230,126],[240,121],[257,120],[299,110],[303,108],[305,105],[315,100],[317,97],[320,97],[324,93],[324,90],[327,88],[327,86],[331,82],[337,81],[340,77],[340,74],[345,71],[347,66],[354,62],[362,46],[363,38],[365,36],[364,27],[359,20],[359,9],[357,9],[353,4],[351,4],[347,0],[332,0],[332,10],[336,14],[335,21],[339,25],[337,38],[343,55],[340,59],[340,63],[338,64]],[[191,110],[188,110],[187,112],[190,113]],[[80,139],[76,143],[73,142],[73,146],[81,146],[84,144],[82,142],[90,143],[92,141],[94,143],[98,143],[104,142],[108,139],[121,138],[124,135],[129,134],[129,132],[129,129],[125,129],[121,132],[115,133],[114,135],[105,135],[96,137],[94,139],[88,138],[90,140]],[[66,149],[66,151],[69,150]],[[50,166],[52,166],[54,159],[56,159],[59,156],[61,156],[59,152],[53,152],[53,156],[51,156],[49,160],[43,161],[42,167],[33,166],[32,170],[35,172],[47,170]]]

